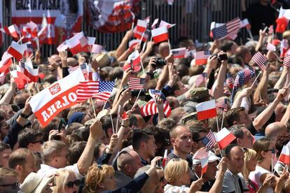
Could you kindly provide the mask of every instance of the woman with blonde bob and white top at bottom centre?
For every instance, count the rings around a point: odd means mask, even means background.
[[[202,187],[202,178],[191,183],[191,173],[188,162],[184,159],[170,159],[170,162],[168,162],[165,167],[164,173],[165,179],[167,180],[167,185],[164,187],[165,193],[197,192]]]

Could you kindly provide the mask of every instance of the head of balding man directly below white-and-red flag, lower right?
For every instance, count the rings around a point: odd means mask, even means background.
[[[230,144],[224,150],[228,158],[228,169],[233,175],[242,172],[244,168],[244,150],[239,145]]]

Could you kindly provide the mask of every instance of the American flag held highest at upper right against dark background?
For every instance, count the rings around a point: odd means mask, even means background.
[[[215,40],[221,40],[226,36],[237,34],[240,29],[240,18],[237,17],[234,20],[230,20],[223,24],[221,27],[215,27],[212,29],[212,35]]]

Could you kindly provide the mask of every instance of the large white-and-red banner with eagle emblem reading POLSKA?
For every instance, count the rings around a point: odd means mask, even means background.
[[[32,96],[29,104],[42,127],[46,127],[62,110],[76,104],[78,83],[83,81],[83,73],[78,69]]]

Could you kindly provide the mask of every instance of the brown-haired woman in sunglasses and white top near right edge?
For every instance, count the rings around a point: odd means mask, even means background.
[[[249,179],[258,185],[258,188],[266,188],[265,192],[281,192],[283,178],[277,178],[271,173],[272,159],[275,157],[275,144],[269,138],[261,138],[254,143],[257,165],[254,171],[249,173]],[[273,164],[274,167],[275,163]]]

